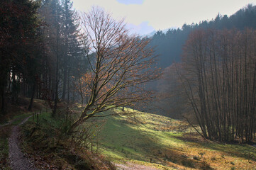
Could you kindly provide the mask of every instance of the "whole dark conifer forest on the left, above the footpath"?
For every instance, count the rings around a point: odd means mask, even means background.
[[[85,73],[84,44],[72,2],[1,1],[1,115],[18,97],[74,101],[78,75]],[[50,101],[55,101],[51,103]]]

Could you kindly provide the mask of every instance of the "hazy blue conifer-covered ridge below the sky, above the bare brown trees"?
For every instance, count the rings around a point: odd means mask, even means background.
[[[170,18],[171,19],[171,18]],[[182,29],[170,29],[167,33],[157,31],[152,37],[151,45],[159,55],[159,66],[169,67],[173,62],[179,62],[182,55],[182,47],[189,33],[196,29],[231,29],[256,28],[256,6],[247,5],[232,16],[222,16],[220,13],[212,21],[201,21],[200,23],[184,24]]]

